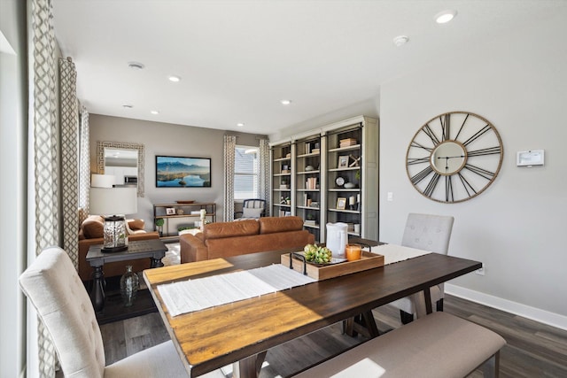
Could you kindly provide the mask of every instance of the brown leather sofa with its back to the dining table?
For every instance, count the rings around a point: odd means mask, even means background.
[[[181,262],[227,258],[286,248],[303,249],[315,236],[303,229],[299,217],[263,217],[258,220],[218,222],[205,225],[197,235],[179,237]]]

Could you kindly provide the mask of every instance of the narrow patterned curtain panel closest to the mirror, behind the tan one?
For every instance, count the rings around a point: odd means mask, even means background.
[[[79,131],[79,225],[89,216],[90,188],[90,149],[89,149],[89,112],[81,109],[81,126]],[[79,227],[77,225],[77,228]]]

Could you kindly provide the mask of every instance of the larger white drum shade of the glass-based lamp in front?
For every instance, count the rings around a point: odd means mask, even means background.
[[[138,212],[135,187],[90,188],[89,202],[91,214],[125,215]]]

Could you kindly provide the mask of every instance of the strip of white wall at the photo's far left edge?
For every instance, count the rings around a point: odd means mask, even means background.
[[[27,50],[26,4],[1,0],[0,12],[0,376],[25,371]]]

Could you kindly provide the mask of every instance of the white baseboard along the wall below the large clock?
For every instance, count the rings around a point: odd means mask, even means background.
[[[529,305],[522,305],[517,302],[509,301],[508,299],[502,299],[500,297],[493,297],[479,291],[465,289],[461,286],[455,286],[451,283],[445,284],[445,292],[454,297],[462,297],[463,299],[468,299],[481,305],[487,305],[501,311],[510,312],[515,315],[523,316],[527,319],[536,320],[540,323],[548,324],[549,326],[555,328],[567,330],[567,316],[563,316],[558,313],[540,310],[539,308],[531,307]]]

